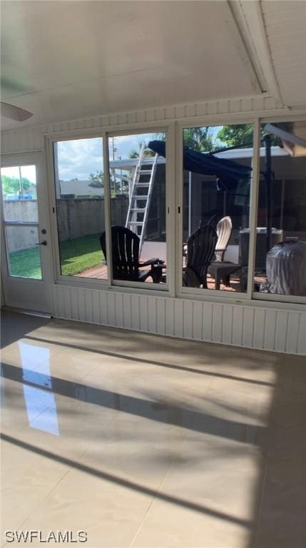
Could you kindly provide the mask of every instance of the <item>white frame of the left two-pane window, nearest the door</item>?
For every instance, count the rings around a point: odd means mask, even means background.
[[[159,133],[165,132],[166,138],[166,249],[167,249],[167,283],[142,283],[142,282],[122,282],[113,280],[111,262],[108,264],[107,280],[96,278],[78,278],[77,276],[65,276],[61,274],[61,264],[58,245],[58,225],[56,215],[56,188],[53,166],[53,143],[58,141],[73,141],[86,138],[102,138],[103,139],[103,173],[104,173],[104,213],[106,222],[106,252],[111,257],[111,202],[109,192],[109,158],[108,158],[108,137],[140,134],[140,133]],[[104,290],[120,290],[129,293],[144,293],[148,295],[170,295],[175,296],[175,280],[173,276],[173,266],[175,264],[173,257],[175,256],[175,230],[174,217],[175,213],[175,192],[170,192],[171,188],[175,188],[175,122],[158,122],[154,125],[151,123],[138,123],[124,126],[108,126],[106,128],[91,128],[86,130],[73,130],[58,133],[51,133],[46,136],[46,151],[47,151],[47,168],[49,176],[49,203],[52,228],[52,250],[53,261],[56,265],[56,282],[62,285],[81,286],[83,288],[101,288]]]

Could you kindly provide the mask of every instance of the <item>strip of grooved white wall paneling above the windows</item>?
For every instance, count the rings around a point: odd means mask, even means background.
[[[49,123],[33,128],[17,128],[1,132],[1,154],[43,150],[44,135],[77,129],[105,128],[108,126],[133,126],[137,123],[171,121],[197,116],[222,116],[227,114],[254,114],[265,111],[284,111],[281,103],[271,96],[224,99],[165,108],[148,108],[145,111],[94,116],[79,120]],[[287,111],[284,111],[287,113]]]

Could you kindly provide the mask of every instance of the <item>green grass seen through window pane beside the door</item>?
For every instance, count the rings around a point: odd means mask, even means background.
[[[103,253],[99,237],[100,234],[93,234],[60,242],[61,273],[64,276],[73,276],[87,268],[101,265]]]

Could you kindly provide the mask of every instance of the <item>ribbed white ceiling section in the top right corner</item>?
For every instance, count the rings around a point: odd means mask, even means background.
[[[306,106],[306,1],[230,0],[248,56],[270,95]]]

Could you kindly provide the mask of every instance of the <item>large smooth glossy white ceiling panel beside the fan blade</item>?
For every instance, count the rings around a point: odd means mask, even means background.
[[[2,129],[261,93],[226,1],[3,1]]]

